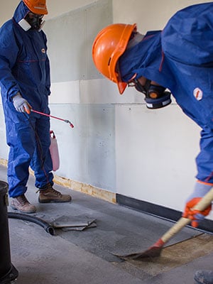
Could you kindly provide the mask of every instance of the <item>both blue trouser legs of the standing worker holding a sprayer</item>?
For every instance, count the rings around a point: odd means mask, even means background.
[[[35,186],[53,184],[50,158],[50,121],[40,116],[17,113],[6,119],[7,143],[10,147],[8,182],[10,197],[23,195],[26,190],[31,165],[35,171]]]

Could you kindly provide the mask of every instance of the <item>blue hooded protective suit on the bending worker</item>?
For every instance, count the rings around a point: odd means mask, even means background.
[[[213,184],[213,2],[175,13],[119,58],[124,82],[134,74],[167,87],[201,128],[197,179]]]

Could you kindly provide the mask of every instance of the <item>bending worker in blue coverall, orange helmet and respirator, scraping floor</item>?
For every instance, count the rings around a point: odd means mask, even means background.
[[[122,94],[133,86],[145,94],[148,109],[170,104],[170,92],[201,128],[197,182],[183,217],[192,226],[207,216],[192,207],[213,185],[213,2],[175,13],[163,31],[138,33],[136,24],[113,24],[100,31],[92,47],[99,72],[116,82]],[[170,91],[170,92],[169,92]],[[197,271],[197,283],[213,284],[213,271]]]

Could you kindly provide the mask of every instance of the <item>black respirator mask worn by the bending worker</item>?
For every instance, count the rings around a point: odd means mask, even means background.
[[[145,94],[148,109],[160,109],[172,102],[171,93],[165,92],[165,87],[151,84],[151,80],[146,80],[143,86],[137,79],[133,79],[129,82],[129,87],[135,87],[138,92]]]

